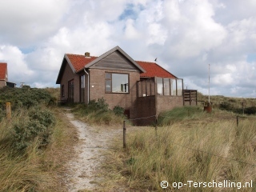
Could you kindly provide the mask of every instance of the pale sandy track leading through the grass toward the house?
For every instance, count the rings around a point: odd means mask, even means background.
[[[90,127],[85,122],[78,121],[70,111],[66,112],[66,117],[78,130],[78,143],[74,146],[74,158],[68,162],[68,186],[69,191],[96,190],[98,183],[104,176],[98,176],[104,160],[104,152],[109,149],[110,141],[122,136],[122,129],[97,129]]]

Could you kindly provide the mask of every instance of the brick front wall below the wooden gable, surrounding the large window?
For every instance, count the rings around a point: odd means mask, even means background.
[[[109,104],[110,109],[114,106],[122,106],[126,110],[130,110],[130,118],[134,118],[136,113],[136,82],[139,81],[139,73],[135,71],[122,70],[101,70],[90,69],[90,100],[104,98]],[[129,74],[129,94],[123,93],[106,93],[105,92],[105,73]]]

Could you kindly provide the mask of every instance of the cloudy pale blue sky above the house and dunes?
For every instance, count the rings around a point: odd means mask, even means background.
[[[0,1],[0,62],[8,80],[58,87],[64,54],[120,46],[183,78],[184,88],[256,98],[255,0]]]

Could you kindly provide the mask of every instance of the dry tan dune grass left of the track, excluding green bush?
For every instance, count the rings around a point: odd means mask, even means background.
[[[51,110],[58,115],[58,109]],[[26,121],[29,112],[24,109],[14,111],[11,121],[6,118],[1,121],[0,191],[63,191],[66,189],[61,179],[65,171],[63,162],[70,154],[66,146],[72,146],[74,133],[66,129],[67,123],[58,118],[47,146],[42,148],[40,139],[34,138],[26,150],[18,150],[14,124]]]

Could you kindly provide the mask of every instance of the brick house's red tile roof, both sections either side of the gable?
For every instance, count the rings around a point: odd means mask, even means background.
[[[81,54],[66,54],[67,57],[70,59],[70,62],[74,66],[74,70],[78,72],[79,70],[82,70],[86,64],[94,61],[95,58],[91,56],[90,58],[86,58],[84,55]],[[161,66],[158,66],[158,64],[154,62],[142,62],[142,61],[135,61],[138,63],[139,66],[141,66],[144,70],[146,70],[146,73],[140,74],[141,77],[145,78],[177,78],[173,74],[170,74],[167,70],[163,69]]]

